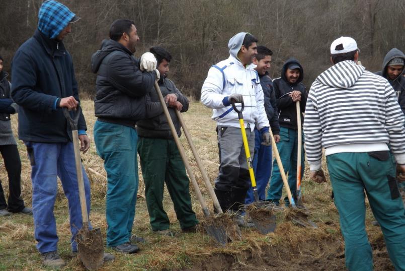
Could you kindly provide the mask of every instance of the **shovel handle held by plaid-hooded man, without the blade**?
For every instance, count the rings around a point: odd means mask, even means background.
[[[71,111],[70,111],[71,112]],[[77,174],[77,184],[79,189],[79,199],[80,199],[80,209],[82,209],[82,221],[83,228],[89,228],[89,218],[87,214],[87,204],[86,204],[86,195],[85,195],[85,183],[83,180],[83,171],[82,171],[82,161],[80,160],[80,147],[79,139],[77,132],[77,122],[82,112],[80,106],[76,107],[76,110],[73,110],[73,118],[70,116],[70,112],[67,108],[63,107],[63,114],[67,122],[69,122],[70,128],[72,130],[72,141],[73,141],[73,150],[74,150],[74,162],[76,164],[76,174]]]

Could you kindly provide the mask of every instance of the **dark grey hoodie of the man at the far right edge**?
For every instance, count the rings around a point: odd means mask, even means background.
[[[402,74],[398,75],[398,77],[394,80],[389,80],[387,77],[387,64],[395,57],[401,57],[405,61],[405,54],[403,54],[397,48],[392,48],[385,55],[384,60],[382,61],[382,70],[375,74],[382,76],[383,78],[388,80],[389,84],[391,84],[392,88],[395,91],[395,95],[398,99],[399,105],[401,106],[402,112],[405,114],[405,77],[403,77],[403,75],[405,74],[405,69],[403,69]]]

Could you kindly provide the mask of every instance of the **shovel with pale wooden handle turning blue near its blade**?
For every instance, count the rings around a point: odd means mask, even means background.
[[[317,228],[315,223],[308,220],[308,213],[305,212],[303,209],[299,209],[297,207],[297,205],[295,204],[294,198],[291,194],[290,186],[288,185],[287,176],[285,175],[283,163],[281,163],[280,154],[278,153],[276,141],[274,140],[273,132],[271,131],[271,128],[269,128],[269,131],[270,131],[270,136],[271,136],[272,147],[274,150],[274,155],[276,156],[277,165],[280,169],[281,179],[283,180],[285,190],[287,191],[288,200],[290,201],[290,205],[292,207],[292,209],[289,211],[289,213],[287,214],[286,217],[288,219],[292,220],[292,222],[294,222],[295,224],[298,224],[300,226],[303,226],[303,227],[311,226],[311,227]]]

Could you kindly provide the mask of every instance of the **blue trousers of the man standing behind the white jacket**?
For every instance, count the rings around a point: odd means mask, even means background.
[[[269,183],[272,168],[271,146],[262,145],[261,132],[255,128],[255,155],[253,157],[253,171],[255,172],[256,187],[258,189],[259,200],[266,197],[266,186]],[[248,190],[245,204],[255,201],[252,186]]]

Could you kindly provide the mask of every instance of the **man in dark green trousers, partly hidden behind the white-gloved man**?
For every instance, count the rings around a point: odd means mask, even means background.
[[[189,101],[167,78],[169,62],[172,59],[170,53],[158,46],[150,48],[150,52],[157,58],[157,70],[161,75],[158,84],[180,137],[181,124],[175,110],[186,112]],[[154,88],[150,89],[149,95],[152,102],[159,101]],[[163,192],[166,183],[177,219],[180,221],[180,228],[183,232],[195,232],[198,221],[191,208],[190,180],[163,110],[154,118],[138,121],[136,131],[139,135],[138,153],[152,231],[162,235],[174,235],[169,229],[169,217],[163,209]]]

